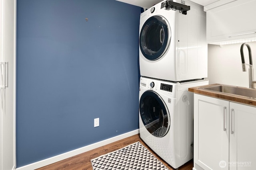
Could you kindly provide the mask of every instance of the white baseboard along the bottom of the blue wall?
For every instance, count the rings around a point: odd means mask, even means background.
[[[70,158],[72,156],[76,156],[78,154],[87,152],[87,151],[92,150],[92,149],[96,149],[98,147],[102,147],[104,145],[108,145],[110,143],[119,141],[119,140],[124,139],[126,137],[130,137],[130,136],[136,135],[138,133],[139,133],[139,129],[136,129],[134,131],[130,131],[128,133],[124,133],[122,135],[118,135],[116,137],[112,137],[112,138],[106,139],[104,141],[93,143],[91,145],[88,145],[88,146],[85,146],[85,147],[82,147],[82,148],[78,148],[78,149],[75,149],[75,150],[71,150],[69,152],[53,156],[51,158],[47,158],[47,159],[44,159],[44,160],[40,160],[38,162],[34,162],[32,164],[21,166],[19,168],[16,168],[16,170],[34,170],[34,169],[37,169],[37,168],[41,168],[43,166],[53,164],[53,163],[58,162],[60,160],[64,160],[66,158]]]

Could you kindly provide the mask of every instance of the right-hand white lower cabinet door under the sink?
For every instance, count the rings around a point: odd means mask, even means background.
[[[256,169],[256,107],[230,102],[229,167]]]

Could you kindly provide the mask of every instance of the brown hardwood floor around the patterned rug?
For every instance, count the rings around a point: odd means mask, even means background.
[[[140,139],[139,134],[128,137],[126,139],[122,139],[120,141],[110,143],[103,147],[99,147],[88,152],[84,152],[82,154],[78,154],[71,158],[67,158],[65,160],[61,160],[54,164],[50,164],[48,166],[44,166],[42,168],[38,168],[37,170],[92,170],[91,159],[96,158],[102,154],[107,154],[108,152],[113,152],[115,150],[121,149],[140,141],[146,148],[148,146]],[[148,148],[149,149],[149,148]],[[150,150],[150,149],[149,149]],[[152,150],[150,150],[152,152]],[[154,152],[152,152],[159,160],[161,160],[167,168],[173,170],[164,160],[162,160],[159,156],[157,156]],[[193,168],[193,160],[190,160],[183,166],[179,168],[179,170],[192,170]]]

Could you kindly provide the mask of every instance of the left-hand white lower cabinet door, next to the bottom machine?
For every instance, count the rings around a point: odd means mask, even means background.
[[[194,94],[194,169],[228,170],[229,102]]]

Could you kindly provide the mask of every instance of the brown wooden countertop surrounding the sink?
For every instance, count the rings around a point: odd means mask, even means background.
[[[209,85],[206,85],[206,86],[198,86],[198,87],[188,88],[188,91],[189,92],[194,92],[196,94],[201,94],[201,95],[205,95],[205,96],[214,97],[214,98],[229,100],[229,101],[232,101],[232,102],[238,102],[238,103],[241,103],[241,104],[248,104],[248,105],[256,106],[256,99],[254,99],[254,98],[249,98],[249,97],[246,97],[246,96],[239,96],[239,95],[235,95],[235,94],[228,94],[228,93],[216,92],[216,91],[213,91],[213,90],[204,89],[204,88],[207,88],[207,87],[218,86],[218,85],[222,85],[222,84],[209,84]]]

